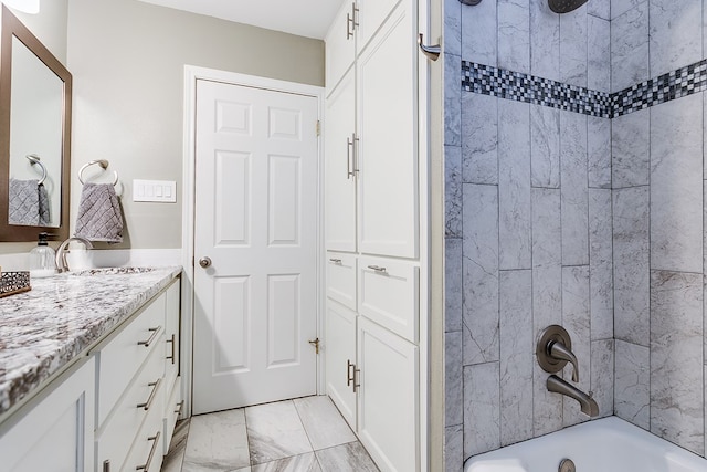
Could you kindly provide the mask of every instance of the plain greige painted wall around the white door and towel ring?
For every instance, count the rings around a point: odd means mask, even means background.
[[[76,172],[108,159],[124,186],[118,248],[181,247],[184,64],[324,85],[324,42],[135,0],[71,0],[72,221]],[[133,179],[176,180],[178,202],[134,203]]]

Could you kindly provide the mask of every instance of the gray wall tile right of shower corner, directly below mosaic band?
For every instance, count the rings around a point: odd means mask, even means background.
[[[613,188],[647,186],[651,172],[651,111],[611,120]]]

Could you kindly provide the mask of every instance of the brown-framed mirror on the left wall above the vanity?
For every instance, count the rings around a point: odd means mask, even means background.
[[[68,238],[72,76],[2,7],[0,241]]]

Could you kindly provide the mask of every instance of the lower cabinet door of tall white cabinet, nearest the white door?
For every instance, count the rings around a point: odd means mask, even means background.
[[[327,394],[356,430],[356,394],[349,381],[354,375],[349,365],[356,364],[356,313],[327,300],[326,332]]]

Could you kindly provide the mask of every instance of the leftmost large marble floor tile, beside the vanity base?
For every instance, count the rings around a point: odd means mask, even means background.
[[[236,471],[250,465],[243,410],[191,418],[182,472]]]

